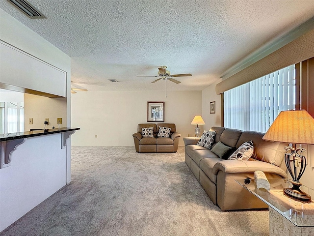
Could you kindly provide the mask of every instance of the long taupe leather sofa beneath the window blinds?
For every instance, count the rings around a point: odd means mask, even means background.
[[[222,210],[267,208],[261,200],[240,186],[235,179],[254,178],[260,170],[267,178],[287,178],[283,162],[287,144],[262,140],[263,133],[212,127],[216,131],[214,147],[218,141],[231,147],[227,156],[219,158],[208,148],[197,145],[200,138],[183,138],[185,163],[201,183],[212,202]],[[248,160],[228,160],[240,145],[252,140],[254,153]],[[218,147],[218,146],[217,146]]]

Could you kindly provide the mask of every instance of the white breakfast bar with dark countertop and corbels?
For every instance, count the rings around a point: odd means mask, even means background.
[[[71,181],[69,137],[79,129],[0,134],[0,232]]]

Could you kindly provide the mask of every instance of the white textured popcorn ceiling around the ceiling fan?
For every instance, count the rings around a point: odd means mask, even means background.
[[[47,19],[0,8],[71,57],[71,80],[89,90],[163,90],[158,67],[201,90],[271,39],[314,16],[314,0],[28,0]],[[119,83],[111,83],[116,79]],[[99,84],[101,86],[90,86]]]

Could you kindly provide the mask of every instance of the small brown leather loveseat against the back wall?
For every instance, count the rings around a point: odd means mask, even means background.
[[[152,138],[143,137],[142,128],[153,127]],[[158,137],[159,127],[171,128],[169,137]],[[179,146],[179,134],[176,131],[176,124],[173,123],[145,123],[137,125],[137,133],[133,135],[136,152],[177,152]]]

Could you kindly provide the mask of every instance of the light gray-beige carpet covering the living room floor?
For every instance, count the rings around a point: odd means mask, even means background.
[[[267,236],[268,211],[223,212],[177,153],[72,147],[72,182],[1,236]]]

